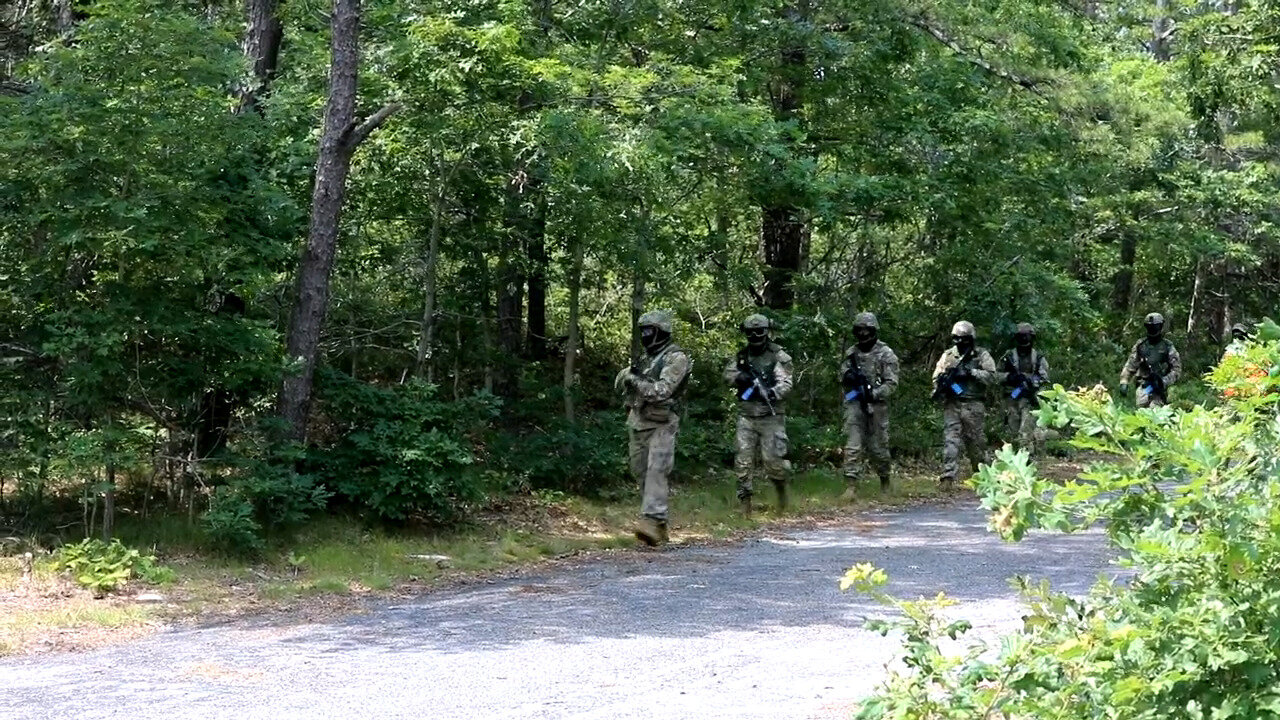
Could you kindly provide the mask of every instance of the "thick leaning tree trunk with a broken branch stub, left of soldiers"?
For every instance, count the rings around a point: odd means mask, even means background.
[[[387,105],[356,126],[356,79],[360,69],[360,0],[333,0],[330,18],[333,60],[329,99],[316,158],[311,192],[307,246],[298,264],[297,304],[289,318],[287,357],[294,364],[284,373],[278,407],[288,437],[306,439],[311,410],[320,331],[329,309],[329,279],[338,246],[338,225],[347,193],[351,156],[365,138],[387,122],[399,105]]]

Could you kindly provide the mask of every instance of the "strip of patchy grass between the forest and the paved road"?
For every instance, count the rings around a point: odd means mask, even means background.
[[[756,487],[756,512],[739,511],[735,480],[676,484],[671,497],[672,542],[717,542],[774,524],[838,519],[852,509],[902,505],[937,493],[932,475],[904,473],[881,493],[874,483],[859,491],[852,507],[841,505],[842,478],[831,470],[796,475],[791,510],[776,510],[768,482]],[[288,542],[278,541],[260,561],[246,562],[193,551],[196,536],[182,518],[152,518],[122,528],[123,539],[156,552],[179,577],[160,588],[163,605],[140,605],[132,592],[95,601],[37,562],[35,578],[20,587],[17,559],[0,559],[0,655],[38,647],[88,647],[102,635],[133,637],[160,621],[317,609],[347,612],[370,593],[413,592],[449,579],[498,571],[585,551],[631,548],[639,493],[590,500],[558,492],[513,498],[474,524],[449,532],[369,528],[355,519],[325,518]],[[442,560],[443,559],[443,560]],[[142,588],[148,589],[148,588]],[[49,638],[59,642],[50,643]],[[78,642],[83,641],[83,642]]]

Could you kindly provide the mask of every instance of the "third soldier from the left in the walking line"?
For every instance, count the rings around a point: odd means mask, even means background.
[[[870,313],[854,318],[854,345],[840,365],[845,389],[845,493],[855,496],[864,454],[870,455],[881,489],[888,489],[888,396],[897,388],[897,355],[879,340],[879,322]]]

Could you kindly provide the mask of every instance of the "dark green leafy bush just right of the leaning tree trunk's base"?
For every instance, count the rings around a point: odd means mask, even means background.
[[[481,496],[472,442],[495,411],[492,396],[451,402],[424,382],[378,387],[324,375],[325,447],[307,460],[342,498],[385,520],[448,523]]]

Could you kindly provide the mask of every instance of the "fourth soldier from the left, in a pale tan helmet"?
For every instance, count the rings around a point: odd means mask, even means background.
[[[983,429],[983,392],[996,378],[996,361],[977,346],[973,323],[960,320],[951,328],[951,343],[933,368],[933,397],[942,401],[942,487],[955,486],[960,452],[966,451],[977,471],[987,460]]]

